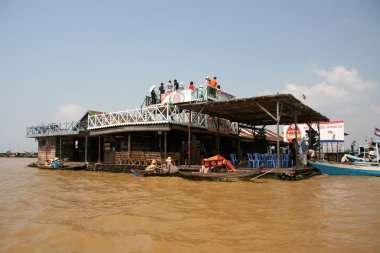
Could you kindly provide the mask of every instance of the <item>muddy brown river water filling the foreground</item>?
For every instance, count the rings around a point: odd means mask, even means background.
[[[0,252],[380,252],[380,177],[193,182],[0,158]]]

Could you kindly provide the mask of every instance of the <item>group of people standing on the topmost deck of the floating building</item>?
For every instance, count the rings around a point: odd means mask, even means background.
[[[211,97],[216,97],[218,91],[220,91],[220,85],[218,85],[216,76],[212,79],[209,77],[205,77],[204,86],[207,88],[208,94]],[[158,94],[156,93],[155,88],[153,88],[150,92],[152,104],[157,104],[157,103],[162,102],[161,97],[162,97],[162,94],[164,94],[165,92],[181,91],[184,89],[185,89],[184,83],[178,82],[177,79],[174,79],[173,82],[169,80],[168,83],[166,84],[166,89],[165,89],[164,83],[161,83],[160,86],[158,87]],[[188,89],[192,91],[196,89],[193,81],[190,81],[188,85]],[[198,95],[198,98],[203,98],[203,84],[200,84],[198,86],[197,95]]]

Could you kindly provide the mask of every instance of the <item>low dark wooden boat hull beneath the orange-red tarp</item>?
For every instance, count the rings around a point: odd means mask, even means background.
[[[251,171],[241,171],[241,172],[182,172],[179,171],[177,176],[190,179],[194,181],[220,181],[220,182],[234,182],[234,181],[248,181],[251,178],[259,175],[261,169],[252,169]]]

